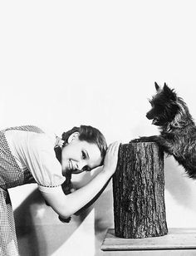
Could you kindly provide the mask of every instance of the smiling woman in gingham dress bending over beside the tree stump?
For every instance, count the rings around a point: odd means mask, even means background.
[[[74,127],[61,139],[37,126],[0,131],[0,255],[18,255],[7,189],[37,182],[47,203],[61,219],[67,219],[95,198],[110,180],[118,148],[119,143],[115,142],[106,150],[104,136],[91,126]],[[103,161],[103,170],[87,185],[71,194],[63,192],[65,176],[94,169]]]

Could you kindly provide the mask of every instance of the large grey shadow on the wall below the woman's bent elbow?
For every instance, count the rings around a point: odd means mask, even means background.
[[[73,216],[68,224],[61,223],[39,190],[33,191],[14,211],[20,255],[51,255],[76,231],[87,212]]]

